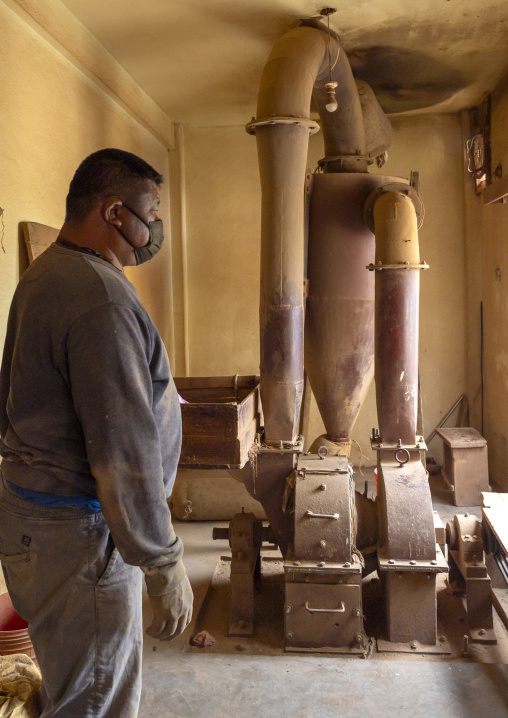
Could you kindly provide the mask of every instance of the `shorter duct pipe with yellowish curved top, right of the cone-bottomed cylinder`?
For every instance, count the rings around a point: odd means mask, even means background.
[[[380,194],[376,234],[375,377],[381,441],[414,445],[418,403],[420,262],[417,216],[402,192]]]

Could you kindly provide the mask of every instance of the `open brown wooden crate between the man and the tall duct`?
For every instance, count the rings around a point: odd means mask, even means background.
[[[181,468],[242,468],[260,425],[259,376],[177,377]]]

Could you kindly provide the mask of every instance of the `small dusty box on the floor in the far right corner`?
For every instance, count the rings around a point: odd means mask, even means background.
[[[487,442],[470,428],[437,429],[443,439],[443,476],[453,491],[455,506],[480,506],[489,491]]]

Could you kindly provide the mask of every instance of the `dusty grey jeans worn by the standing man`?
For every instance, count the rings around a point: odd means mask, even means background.
[[[36,506],[0,480],[0,559],[41,669],[41,718],[136,718],[142,573],[102,513]]]

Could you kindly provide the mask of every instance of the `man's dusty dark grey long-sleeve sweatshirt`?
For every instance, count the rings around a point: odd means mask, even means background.
[[[0,373],[8,481],[97,496],[124,560],[178,561],[166,498],[181,446],[167,353],[136,290],[109,262],[51,245],[20,280]]]

